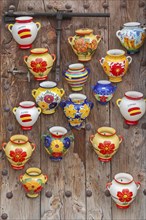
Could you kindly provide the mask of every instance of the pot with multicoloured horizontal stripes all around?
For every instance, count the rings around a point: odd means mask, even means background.
[[[74,63],[64,71],[64,77],[73,91],[81,91],[87,82],[89,73],[89,68],[85,68],[82,63]]]

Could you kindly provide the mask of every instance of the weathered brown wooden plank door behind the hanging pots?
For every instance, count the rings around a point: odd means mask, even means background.
[[[32,131],[22,132],[12,113],[12,108],[20,101],[33,100],[31,90],[38,88],[38,82],[27,81],[26,74],[12,75],[9,70],[17,67],[27,72],[23,61],[29,50],[20,50],[1,18],[1,142],[8,142],[13,134],[24,133],[33,140],[37,149],[25,168],[36,166],[49,177],[41,195],[36,199],[25,196],[18,177],[22,171],[10,167],[4,153],[0,152],[0,216],[2,219],[36,220],[36,219],[94,219],[94,220],[144,220],[146,219],[146,115],[137,126],[126,126],[116,106],[116,100],[122,98],[128,90],[142,92],[146,97],[146,43],[140,53],[132,56],[133,62],[127,75],[118,88],[114,98],[106,106],[97,104],[91,85],[97,80],[107,79],[98,60],[106,55],[108,49],[123,49],[115,33],[123,23],[139,21],[146,23],[146,2],[144,0],[1,0],[1,14],[15,5],[17,11],[45,12],[60,9],[71,9],[74,12],[110,12],[110,18],[73,18],[63,21],[61,39],[61,70],[71,63],[77,62],[67,38],[74,35],[79,27],[90,27],[94,33],[102,35],[102,41],[93,57],[87,63],[91,69],[88,83],[83,94],[94,102],[94,108],[86,123],[91,129],[73,130],[75,142],[65,158],[59,162],[51,162],[41,142],[41,135],[47,128],[60,125],[68,126],[61,110],[54,115],[41,115]],[[53,9],[55,8],[55,9]],[[54,19],[35,18],[42,23],[42,28],[33,47],[49,48],[56,53],[56,22]],[[55,66],[49,75],[55,80]],[[58,86],[65,89],[67,98],[71,93],[68,85],[61,77]],[[109,163],[102,164],[93,152],[89,143],[89,135],[101,126],[111,126],[124,137],[119,151]],[[141,182],[138,195],[127,210],[116,207],[111,197],[105,194],[106,183],[119,172],[131,173],[136,181]],[[145,192],[145,191],[144,191]]]

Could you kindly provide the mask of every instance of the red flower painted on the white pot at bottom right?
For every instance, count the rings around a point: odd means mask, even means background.
[[[123,189],[122,192],[117,192],[117,196],[120,202],[130,202],[133,193],[130,192],[129,189]]]

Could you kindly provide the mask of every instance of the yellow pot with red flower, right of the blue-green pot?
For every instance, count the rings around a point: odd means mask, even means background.
[[[111,127],[101,127],[97,133],[89,138],[98,159],[102,162],[109,162],[117,152],[123,137],[116,134],[116,130]]]

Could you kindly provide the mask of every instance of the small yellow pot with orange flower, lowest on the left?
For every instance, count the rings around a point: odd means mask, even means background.
[[[26,195],[30,198],[36,198],[43,189],[48,177],[42,174],[39,168],[31,167],[25,171],[25,174],[20,175],[19,180]]]

